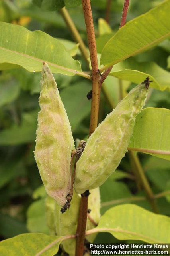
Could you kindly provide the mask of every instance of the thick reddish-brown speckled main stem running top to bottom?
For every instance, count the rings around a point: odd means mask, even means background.
[[[84,19],[86,23],[86,31],[88,38],[88,46],[90,51],[90,61],[92,66],[92,103],[91,103],[91,115],[90,115],[90,128],[89,135],[91,135],[98,125],[98,111],[100,102],[100,86],[99,79],[100,74],[98,72],[98,59],[96,50],[96,39],[94,33],[94,24],[92,17],[92,9],[90,0],[82,0]],[[84,250],[84,239],[86,232],[88,211],[88,196],[82,194],[80,201],[80,210],[78,216],[77,226],[77,239],[76,239],[76,256],[82,256]]]

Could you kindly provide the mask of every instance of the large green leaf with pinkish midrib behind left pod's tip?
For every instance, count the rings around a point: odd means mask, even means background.
[[[72,76],[81,71],[80,63],[73,60],[59,40],[48,34],[5,22],[0,22],[0,30],[0,63],[17,64],[30,72],[39,72],[45,61],[54,73]]]

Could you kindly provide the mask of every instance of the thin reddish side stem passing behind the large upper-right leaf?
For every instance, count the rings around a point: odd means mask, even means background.
[[[127,11],[128,11],[128,7],[129,7],[129,1],[130,0],[125,0],[124,2],[124,6],[123,6],[123,11],[122,11],[122,16],[121,16],[121,22],[120,22],[120,27],[121,28],[122,26],[125,25],[126,23],[126,17],[127,17]],[[103,72],[104,70],[104,73],[102,74],[102,78],[100,80],[100,84],[102,86],[102,83],[104,82],[104,80],[107,78],[107,76],[109,75],[110,71],[112,70],[113,66],[111,67],[108,67],[107,65],[104,66],[103,68],[100,69],[100,72]]]

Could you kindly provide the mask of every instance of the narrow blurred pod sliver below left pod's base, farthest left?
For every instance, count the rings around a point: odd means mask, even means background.
[[[52,197],[47,196],[45,198],[45,215],[50,235],[55,235],[55,203],[56,202]]]

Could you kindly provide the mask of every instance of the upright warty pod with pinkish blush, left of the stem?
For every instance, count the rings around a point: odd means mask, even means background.
[[[70,159],[74,149],[71,126],[49,66],[44,63],[35,160],[45,190],[63,206],[70,191]]]

